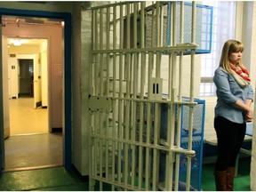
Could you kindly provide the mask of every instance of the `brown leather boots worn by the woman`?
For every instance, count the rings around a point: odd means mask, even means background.
[[[228,167],[226,171],[215,171],[214,175],[217,191],[233,191],[235,167]]]

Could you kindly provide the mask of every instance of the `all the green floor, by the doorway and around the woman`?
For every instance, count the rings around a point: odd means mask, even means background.
[[[241,159],[239,174],[235,178],[235,191],[250,191],[251,158]],[[202,190],[215,191],[213,175],[214,164],[204,164],[202,171]],[[21,191],[88,191],[88,180],[81,180],[76,171],[67,171],[64,167],[45,168],[21,172],[4,172],[0,177],[0,190]],[[96,183],[94,190],[99,190]],[[109,185],[103,185],[103,190],[110,191]]]

